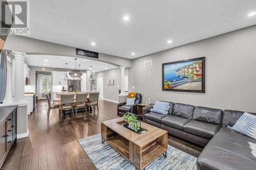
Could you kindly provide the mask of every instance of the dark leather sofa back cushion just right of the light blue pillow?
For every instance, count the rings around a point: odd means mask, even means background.
[[[175,103],[172,115],[192,119],[195,106]]]

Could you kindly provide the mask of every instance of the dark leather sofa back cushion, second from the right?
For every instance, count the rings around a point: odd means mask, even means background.
[[[193,120],[221,125],[222,115],[223,111],[221,109],[196,106],[194,109]]]

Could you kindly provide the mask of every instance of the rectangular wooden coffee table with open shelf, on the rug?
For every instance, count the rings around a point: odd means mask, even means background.
[[[166,158],[167,131],[141,122],[142,131],[135,133],[123,127],[123,118],[101,123],[102,143],[108,142],[137,169],[144,169],[161,154]]]

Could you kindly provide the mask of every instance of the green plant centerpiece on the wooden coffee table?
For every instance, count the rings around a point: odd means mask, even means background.
[[[138,115],[126,112],[126,114],[123,115],[123,120],[123,126],[125,128],[130,129],[137,133],[141,131],[141,122]]]

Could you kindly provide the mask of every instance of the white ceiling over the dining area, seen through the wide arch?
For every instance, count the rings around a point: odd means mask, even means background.
[[[32,66],[52,67],[52,68],[66,68],[66,63],[68,63],[68,69],[75,69],[74,58],[65,57],[65,56],[26,55],[25,63],[27,65],[32,65]],[[81,70],[86,70],[91,68],[92,72],[99,72],[99,71],[117,68],[117,66],[115,65],[103,63],[100,61],[77,58],[77,66],[76,66],[77,69],[79,69],[79,66],[78,66],[79,64],[81,65],[80,67]]]

